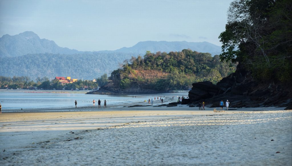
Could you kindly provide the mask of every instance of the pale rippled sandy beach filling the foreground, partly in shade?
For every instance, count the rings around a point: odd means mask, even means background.
[[[175,108],[2,114],[0,165],[292,164],[291,110]]]

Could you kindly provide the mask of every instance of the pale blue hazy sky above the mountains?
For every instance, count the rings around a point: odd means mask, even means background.
[[[33,31],[61,47],[116,50],[140,41],[221,46],[232,0],[0,0],[0,36]]]

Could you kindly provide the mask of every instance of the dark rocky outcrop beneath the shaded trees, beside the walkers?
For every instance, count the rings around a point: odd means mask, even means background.
[[[240,64],[236,72],[214,85],[209,81],[193,84],[189,91],[191,103],[205,101],[206,107],[219,107],[229,100],[230,107],[287,107],[292,106],[292,89],[274,83],[259,83]]]

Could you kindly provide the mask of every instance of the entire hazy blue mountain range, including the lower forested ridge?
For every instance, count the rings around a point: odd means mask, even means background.
[[[28,76],[55,78],[71,76],[94,79],[120,67],[132,56],[192,49],[197,52],[220,54],[220,47],[208,42],[139,42],[114,51],[77,51],[58,46],[54,41],[40,39],[34,32],[23,32],[0,38],[0,76]],[[5,62],[5,63],[4,63]]]

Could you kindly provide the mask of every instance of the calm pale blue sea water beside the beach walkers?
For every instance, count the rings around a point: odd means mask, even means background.
[[[33,93],[31,93],[33,92]],[[103,106],[103,101],[107,101],[107,105],[119,106],[119,104],[128,103],[143,103],[144,100],[148,99],[148,96],[128,96],[128,95],[95,95],[95,94],[85,94],[74,93],[72,91],[55,91],[57,93],[51,93],[52,91],[32,91],[32,90],[0,90],[0,103],[2,105],[2,110],[19,110],[22,109],[36,109],[36,108],[72,108],[75,106],[75,100],[77,101],[77,106],[92,106],[93,99],[96,101],[97,106],[98,99],[101,100],[101,105]],[[65,92],[65,93],[64,93]],[[151,97],[151,96],[149,96]]]

